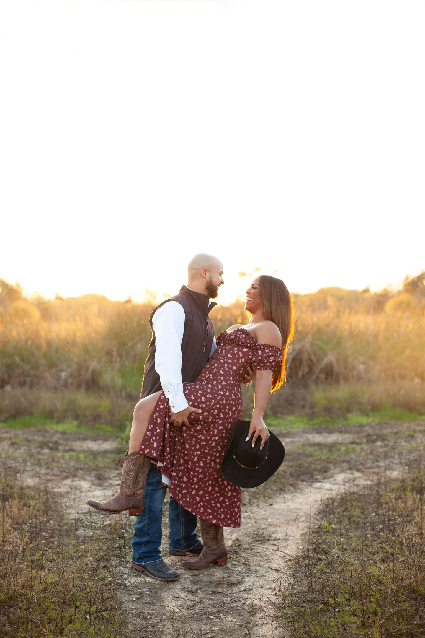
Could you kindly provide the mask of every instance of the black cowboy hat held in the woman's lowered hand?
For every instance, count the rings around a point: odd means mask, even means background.
[[[285,457],[285,448],[281,441],[270,432],[270,437],[260,450],[261,436],[257,437],[252,447],[252,437],[246,441],[249,434],[249,421],[235,421],[230,434],[221,471],[234,485],[238,487],[257,487],[278,470]]]

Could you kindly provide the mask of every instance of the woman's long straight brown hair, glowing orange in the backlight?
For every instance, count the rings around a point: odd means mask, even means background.
[[[282,336],[282,366],[271,378],[271,392],[274,392],[286,381],[286,352],[294,336],[294,309],[291,294],[282,279],[260,275],[259,280],[264,317],[277,325]]]

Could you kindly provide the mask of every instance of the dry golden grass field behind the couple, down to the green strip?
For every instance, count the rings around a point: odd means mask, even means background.
[[[425,410],[424,281],[422,272],[405,279],[398,292],[324,288],[295,295],[289,383],[273,396],[272,412]],[[101,295],[25,299],[19,286],[1,282],[0,288],[0,387],[20,389],[17,401],[10,392],[3,417],[57,417],[59,401],[61,418],[75,418],[72,396],[78,407],[88,403],[78,395],[90,392],[100,397],[102,420],[126,421],[117,405],[133,404],[140,390],[154,305]],[[217,306],[212,318],[218,334],[245,323],[247,313],[235,302]],[[98,416],[87,413],[88,419]]]

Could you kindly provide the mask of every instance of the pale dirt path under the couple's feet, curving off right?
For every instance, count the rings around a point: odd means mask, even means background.
[[[271,503],[245,510],[240,529],[226,528],[229,561],[193,572],[184,559],[162,554],[182,575],[154,581],[120,566],[120,598],[134,636],[161,638],[280,638],[278,608],[285,591],[287,559],[298,553],[301,535],[322,497],[349,484],[360,473],[338,474],[327,482],[280,494]]]

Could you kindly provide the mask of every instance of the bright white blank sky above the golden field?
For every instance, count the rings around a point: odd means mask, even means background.
[[[425,267],[422,0],[3,0],[1,275],[294,292]]]

